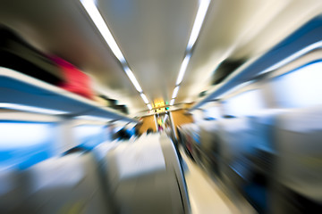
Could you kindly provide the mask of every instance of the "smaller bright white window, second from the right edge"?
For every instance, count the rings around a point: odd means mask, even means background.
[[[263,99],[259,90],[250,90],[225,101],[224,113],[235,117],[252,115],[263,109]]]

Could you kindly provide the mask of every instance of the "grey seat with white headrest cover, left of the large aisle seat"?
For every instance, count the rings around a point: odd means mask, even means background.
[[[24,175],[29,197],[21,213],[113,213],[90,152],[42,161]]]

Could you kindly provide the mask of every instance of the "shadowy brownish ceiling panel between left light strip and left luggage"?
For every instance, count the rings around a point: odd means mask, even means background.
[[[0,22],[44,53],[55,53],[92,75],[106,95],[129,106],[147,109],[139,93],[78,1],[5,0]]]

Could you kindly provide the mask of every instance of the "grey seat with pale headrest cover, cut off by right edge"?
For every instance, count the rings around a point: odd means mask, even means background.
[[[322,203],[322,106],[293,109],[276,119],[278,181]]]

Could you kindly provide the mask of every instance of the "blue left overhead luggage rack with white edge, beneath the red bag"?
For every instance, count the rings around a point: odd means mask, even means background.
[[[57,86],[3,67],[0,67],[0,103],[60,111],[62,116],[66,117],[86,115],[136,122],[121,112],[101,106],[80,95],[74,95]]]

